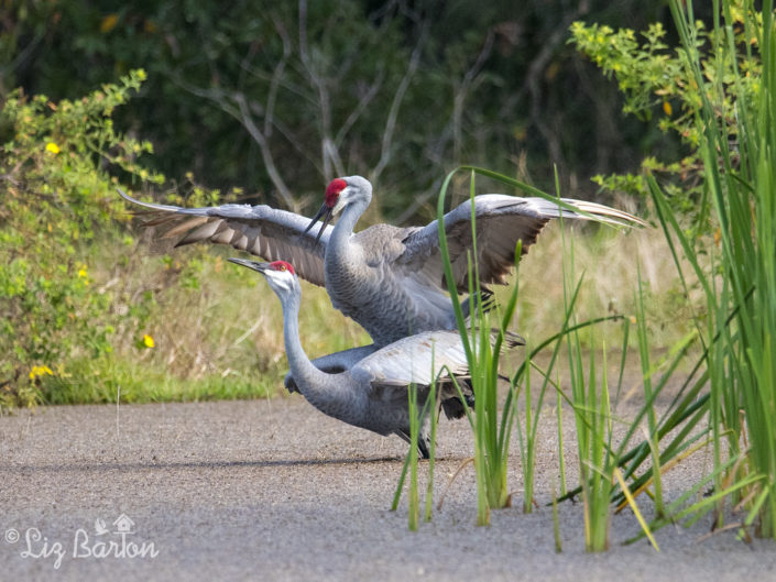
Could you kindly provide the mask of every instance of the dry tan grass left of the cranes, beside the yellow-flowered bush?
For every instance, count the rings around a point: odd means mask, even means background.
[[[140,242],[125,264],[103,261],[112,266],[96,273],[98,290],[111,293],[113,309],[129,311],[153,296],[144,323],[128,318],[117,329],[114,355],[189,380],[285,370],[280,301],[259,274],[226,262],[237,254],[206,245],[149,252]],[[303,283],[303,294],[299,328],[312,358],[369,341],[331,307],[325,289]],[[138,349],[144,333],[153,349]]]

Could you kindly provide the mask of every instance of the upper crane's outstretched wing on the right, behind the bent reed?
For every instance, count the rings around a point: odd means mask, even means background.
[[[544,226],[553,218],[597,220],[621,226],[646,224],[641,219],[610,208],[583,200],[561,199],[575,210],[561,208],[544,198],[518,198],[502,194],[485,194],[474,198],[477,217],[477,260],[480,282],[506,283],[506,276],[515,264],[514,251],[522,241],[523,254],[536,242]],[[409,230],[403,240],[404,253],[395,261],[396,267],[404,270],[407,279],[416,284],[433,282],[434,286],[446,289],[437,221],[427,227]],[[471,204],[462,202],[445,215],[445,231],[452,264],[452,273],[460,293],[468,289],[467,252],[472,249]]]

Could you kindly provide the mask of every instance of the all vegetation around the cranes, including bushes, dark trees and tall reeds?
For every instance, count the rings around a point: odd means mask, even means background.
[[[568,322],[612,312],[636,323],[630,343],[629,323],[616,342],[600,331],[567,340],[568,403],[590,470],[579,488],[589,549],[609,543],[612,496],[636,510],[625,480],[635,496],[652,488],[645,535],[712,507],[721,523],[731,498],[745,514],[742,537],[776,537],[773,2],[764,12],[745,0],[701,8],[3,2],[0,408],[261,397],[280,386],[281,314],[255,277],[225,265],[229,251],[156,242],[131,223],[117,185],[187,206],[229,199],[308,212],[329,179],[358,173],[378,193],[364,224],[403,224],[428,219],[449,171],[474,164],[500,173],[481,172],[478,188],[516,191],[516,178],[654,208],[662,227],[599,230],[568,245],[556,226],[521,270],[513,326],[529,343],[556,333],[560,345]],[[468,178],[450,179],[455,201]],[[560,260],[569,248],[570,271]],[[581,270],[584,285],[569,275]],[[310,354],[367,341],[323,290],[306,297]],[[623,354],[637,345],[642,364],[644,408],[616,448],[606,350],[591,349],[606,344]],[[693,347],[698,363],[658,419],[655,399]],[[512,394],[529,393],[521,382],[512,376]],[[478,438],[495,442],[482,422],[495,424],[476,413]],[[528,464],[529,418],[518,427]],[[645,440],[626,451],[644,418]],[[711,472],[664,503],[663,468],[707,442]],[[481,444],[478,462],[498,457]],[[700,501],[688,506],[691,497]],[[482,523],[507,497],[493,499]]]

